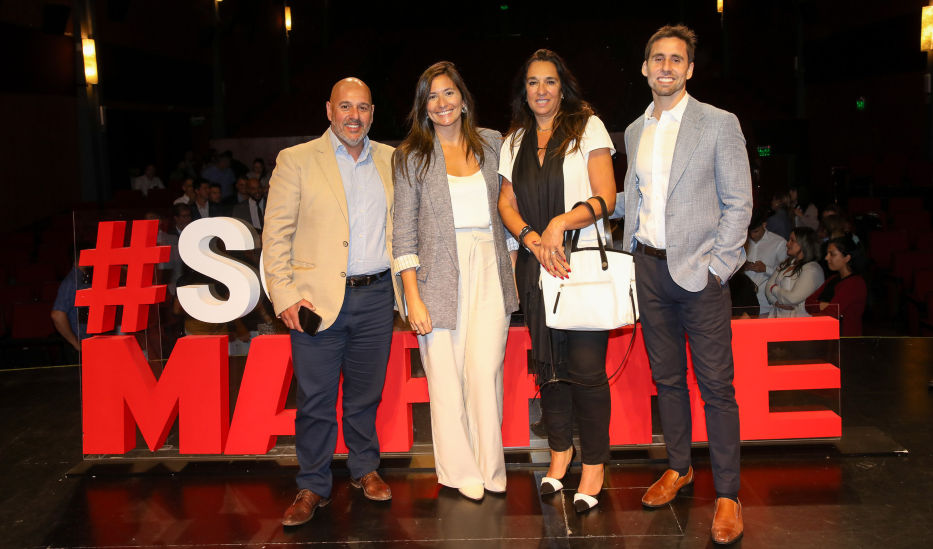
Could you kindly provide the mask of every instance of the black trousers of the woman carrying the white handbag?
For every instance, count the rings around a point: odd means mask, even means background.
[[[609,461],[609,385],[606,346],[609,332],[568,331],[566,377],[577,383],[551,382],[541,387],[541,409],[548,446],[563,452],[573,444],[573,422],[580,429],[583,463]]]

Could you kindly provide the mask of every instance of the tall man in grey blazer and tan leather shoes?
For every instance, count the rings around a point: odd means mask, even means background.
[[[638,307],[670,467],[642,503],[666,506],[693,482],[687,335],[716,487],[711,534],[725,544],[743,531],[726,283],[745,261],[752,187],[738,119],[687,94],[695,45],[684,26],[663,27],[648,41],[642,74],[654,101],[625,130],[628,170],[616,212],[625,216],[623,242],[635,254]]]

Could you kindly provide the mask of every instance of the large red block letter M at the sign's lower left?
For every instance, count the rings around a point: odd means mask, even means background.
[[[223,451],[230,428],[226,336],[178,340],[158,380],[132,336],[92,337],[82,347],[85,454],[132,450],[136,425],[154,452],[179,416],[180,453]]]

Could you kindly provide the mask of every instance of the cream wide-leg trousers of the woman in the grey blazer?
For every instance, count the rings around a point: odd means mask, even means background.
[[[457,328],[418,336],[431,399],[437,480],[505,491],[502,363],[505,314],[491,230],[457,229]],[[428,311],[430,313],[430,311]]]

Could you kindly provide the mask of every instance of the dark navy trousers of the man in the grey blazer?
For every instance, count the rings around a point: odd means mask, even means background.
[[[713,482],[719,496],[739,493],[739,407],[732,379],[732,300],[712,273],[706,288],[690,292],[671,278],[667,260],[635,252],[638,311],[644,329],[658,411],[672,469],[690,467],[690,394],[687,350],[705,403]]]

